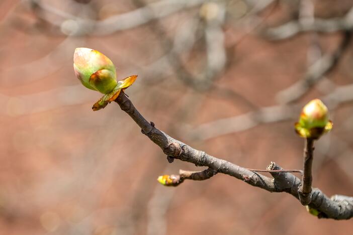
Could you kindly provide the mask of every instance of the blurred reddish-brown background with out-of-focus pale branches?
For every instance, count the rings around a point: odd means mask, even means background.
[[[314,182],[353,195],[353,3],[349,0],[0,1],[1,234],[348,234],[286,193],[218,174],[176,188],[160,149],[74,76],[99,50],[157,128],[243,167],[302,168],[293,124],[312,98],[334,129]]]

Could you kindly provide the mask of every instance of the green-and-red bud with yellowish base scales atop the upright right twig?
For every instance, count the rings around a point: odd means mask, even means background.
[[[313,99],[307,103],[300,114],[295,130],[300,137],[319,139],[332,129],[328,109],[320,99]]]

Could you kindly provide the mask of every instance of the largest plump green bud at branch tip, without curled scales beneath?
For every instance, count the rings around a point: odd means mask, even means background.
[[[113,62],[99,51],[76,48],[73,54],[73,69],[76,77],[89,89],[107,94],[117,85]]]

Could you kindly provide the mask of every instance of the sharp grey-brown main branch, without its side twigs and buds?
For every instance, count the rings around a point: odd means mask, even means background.
[[[262,188],[269,192],[287,192],[299,199],[298,191],[301,180],[293,174],[289,172],[271,172],[274,178],[270,178],[231,162],[215,158],[203,151],[193,149],[155,128],[152,122],[147,122],[123,92],[119,94],[116,102],[142,129],[142,133],[153,143],[158,145],[169,158],[180,159],[193,163],[196,166],[206,166],[218,173],[233,176],[252,186]],[[268,166],[268,170],[283,169],[272,162]],[[311,195],[312,199],[309,206],[319,211],[318,217],[333,219],[349,219],[353,217],[352,197],[334,195],[332,199],[330,199],[317,188],[312,189]]]

